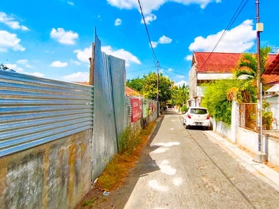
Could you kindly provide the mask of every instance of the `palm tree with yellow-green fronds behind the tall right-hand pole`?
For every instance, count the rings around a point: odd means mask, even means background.
[[[271,47],[266,46],[260,49],[261,59],[260,59],[260,67],[261,67],[261,75],[264,74],[267,66],[266,63],[269,59],[269,53],[271,52]],[[236,77],[243,77],[244,79],[257,79],[257,54],[248,54],[245,53],[241,56],[239,63],[236,68]]]

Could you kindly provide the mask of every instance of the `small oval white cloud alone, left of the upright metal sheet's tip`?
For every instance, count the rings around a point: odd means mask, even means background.
[[[62,28],[52,29],[50,32],[50,37],[57,40],[64,45],[74,45],[75,40],[78,38],[78,34],[73,31],[65,31]]]

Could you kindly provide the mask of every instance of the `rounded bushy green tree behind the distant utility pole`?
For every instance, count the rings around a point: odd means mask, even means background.
[[[144,85],[142,88],[142,95],[144,98],[150,100],[156,100],[157,98],[157,74],[150,72],[148,75],[143,76]],[[172,98],[172,85],[174,82],[170,81],[168,77],[163,76],[163,73],[159,75],[159,101],[167,102]]]

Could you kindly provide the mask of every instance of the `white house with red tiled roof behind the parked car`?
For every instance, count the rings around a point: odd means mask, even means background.
[[[190,106],[199,106],[203,96],[202,84],[216,79],[230,79],[236,70],[237,63],[242,53],[225,52],[193,52],[192,67],[189,75]],[[276,58],[275,54],[269,55],[269,61]],[[277,79],[274,75],[264,75],[264,82],[269,83]]]

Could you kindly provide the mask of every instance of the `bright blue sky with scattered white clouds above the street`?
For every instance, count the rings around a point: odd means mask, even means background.
[[[242,0],[141,0],[160,71],[188,82],[193,51],[211,52]],[[249,0],[214,52],[255,52]],[[260,0],[262,45],[279,47],[278,0]],[[0,7],[0,63],[68,82],[89,80],[94,27],[102,50],[126,60],[126,77],[156,71],[137,0],[10,0]]]

